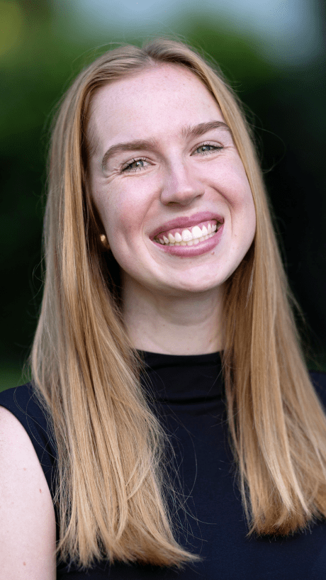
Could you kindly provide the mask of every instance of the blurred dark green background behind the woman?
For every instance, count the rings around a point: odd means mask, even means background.
[[[326,371],[324,3],[0,0],[0,389],[26,380],[38,319],[53,108],[101,52],[154,35],[203,49],[245,103],[308,367]]]

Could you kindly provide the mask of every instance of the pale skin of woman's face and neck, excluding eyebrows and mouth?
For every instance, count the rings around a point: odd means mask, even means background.
[[[225,122],[217,102],[193,73],[176,65],[101,87],[91,104],[88,130],[96,148],[89,186],[123,271],[128,333],[142,350],[189,355],[223,348],[223,284],[252,244],[256,216],[227,130],[184,134],[210,121]],[[102,167],[109,147],[133,140],[156,143],[117,152]],[[174,256],[150,239],[165,222],[201,211],[224,218],[213,250]]]

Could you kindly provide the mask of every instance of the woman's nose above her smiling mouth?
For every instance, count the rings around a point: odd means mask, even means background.
[[[164,205],[172,203],[188,206],[193,199],[202,196],[203,184],[196,178],[184,162],[169,168],[161,192],[161,201]]]

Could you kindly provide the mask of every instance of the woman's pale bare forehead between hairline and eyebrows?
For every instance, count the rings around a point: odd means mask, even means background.
[[[177,130],[215,119],[224,121],[201,79],[186,67],[164,63],[98,89],[87,133],[101,149],[111,137],[144,138],[144,133],[164,133],[167,125]]]

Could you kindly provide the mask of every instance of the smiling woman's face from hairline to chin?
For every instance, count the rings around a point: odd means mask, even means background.
[[[96,92],[89,184],[124,283],[217,288],[254,238],[245,169],[220,108],[188,69],[157,65]]]

